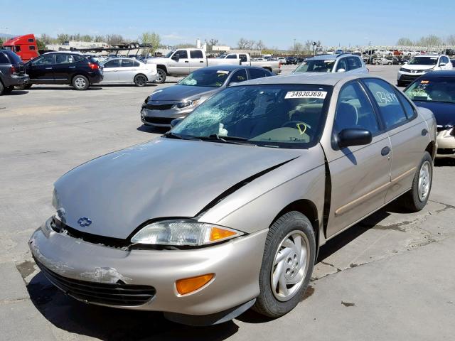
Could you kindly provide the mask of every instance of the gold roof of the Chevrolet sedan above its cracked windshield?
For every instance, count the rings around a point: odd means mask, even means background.
[[[256,78],[255,80],[247,80],[241,82],[234,87],[242,85],[279,85],[279,84],[311,84],[311,85],[330,85],[334,86],[340,81],[348,82],[350,80],[358,80],[360,78],[376,78],[384,80],[382,77],[373,76],[370,74],[355,74],[346,75],[346,73],[333,72],[299,72],[286,76],[272,76],[264,78]],[[386,81],[387,82],[387,81]]]

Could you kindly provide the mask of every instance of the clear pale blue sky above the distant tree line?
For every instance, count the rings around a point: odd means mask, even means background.
[[[277,48],[289,48],[294,38],[323,45],[392,45],[402,36],[455,34],[454,1],[0,0],[0,9],[11,9],[1,16],[0,33],[119,33],[137,39],[154,31],[170,45],[196,38],[236,45],[242,37]]]

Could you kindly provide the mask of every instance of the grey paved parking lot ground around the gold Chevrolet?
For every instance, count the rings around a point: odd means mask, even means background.
[[[395,84],[399,65],[369,68]],[[391,204],[331,239],[301,303],[277,320],[248,311],[191,328],[161,313],[85,305],[51,286],[27,241],[53,214],[53,182],[163,133],[143,126],[139,109],[177,80],[85,92],[40,85],[0,97],[1,340],[454,340],[455,166],[446,161],[437,161],[424,210]]]

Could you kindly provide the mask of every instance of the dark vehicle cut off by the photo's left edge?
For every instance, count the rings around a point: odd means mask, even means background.
[[[27,84],[28,75],[21,58],[11,50],[0,50],[0,95]]]

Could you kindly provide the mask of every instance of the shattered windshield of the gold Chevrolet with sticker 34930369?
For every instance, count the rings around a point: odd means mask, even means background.
[[[319,85],[228,87],[171,133],[203,141],[309,148],[319,141],[330,97],[331,87]]]

